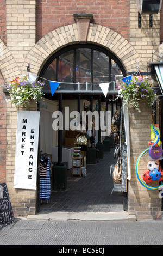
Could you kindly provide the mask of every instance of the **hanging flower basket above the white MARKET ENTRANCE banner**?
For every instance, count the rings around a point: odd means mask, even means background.
[[[28,108],[30,101],[37,102],[44,95],[42,92],[43,85],[44,82],[30,82],[27,76],[23,75],[22,81],[16,79],[9,86],[6,86],[9,91],[7,102],[13,103],[16,109]]]

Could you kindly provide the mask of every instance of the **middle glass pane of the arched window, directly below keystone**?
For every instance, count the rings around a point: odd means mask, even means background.
[[[76,83],[81,90],[91,82],[91,49],[80,48],[76,51]],[[83,85],[84,84],[84,85]],[[89,87],[89,85],[88,85]]]

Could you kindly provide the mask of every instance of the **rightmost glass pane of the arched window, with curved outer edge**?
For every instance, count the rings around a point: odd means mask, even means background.
[[[110,90],[117,90],[118,84],[122,83],[122,71],[116,64],[116,62],[111,59],[111,79],[110,79]]]

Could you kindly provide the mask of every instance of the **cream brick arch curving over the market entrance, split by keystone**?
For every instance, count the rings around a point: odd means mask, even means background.
[[[87,42],[102,46],[114,53],[127,72],[136,71],[137,63],[143,70],[143,64],[134,47],[123,36],[101,25],[90,24]],[[29,51],[23,64],[25,72],[30,64],[30,72],[39,75],[42,66],[55,52],[68,45],[79,43],[77,25],[72,24],[55,29],[43,36]]]

